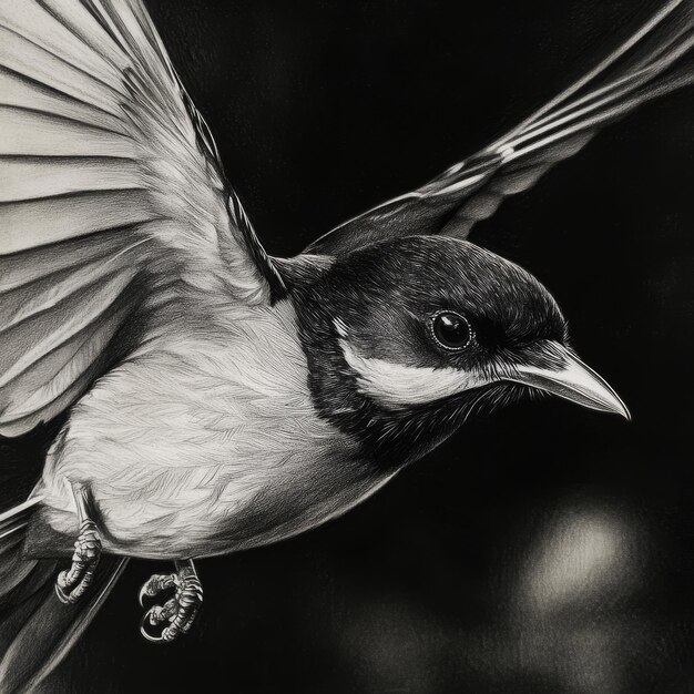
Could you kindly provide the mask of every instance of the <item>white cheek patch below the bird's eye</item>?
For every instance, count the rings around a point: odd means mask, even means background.
[[[357,374],[360,392],[389,408],[426,405],[494,380],[474,371],[369,359],[358,355],[345,339],[340,340],[340,347],[347,364]]]

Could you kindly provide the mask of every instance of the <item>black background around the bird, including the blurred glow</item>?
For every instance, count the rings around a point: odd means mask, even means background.
[[[662,3],[147,4],[284,255],[514,125]],[[694,691],[691,114],[691,92],[642,109],[473,236],[553,292],[631,425],[555,399],[478,418],[341,519],[200,562],[204,611],[170,646],[135,600],[169,568],[135,562],[45,691]]]

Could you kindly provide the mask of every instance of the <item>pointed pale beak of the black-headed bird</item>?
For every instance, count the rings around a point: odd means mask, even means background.
[[[506,377],[571,400],[601,412],[613,412],[631,420],[631,415],[620,396],[593,369],[583,364],[559,343],[543,345],[552,355],[557,366],[537,367],[514,365],[513,372]]]

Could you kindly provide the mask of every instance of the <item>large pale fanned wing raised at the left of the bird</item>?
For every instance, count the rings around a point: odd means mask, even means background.
[[[0,0],[0,435],[65,409],[181,286],[283,290],[144,6]]]

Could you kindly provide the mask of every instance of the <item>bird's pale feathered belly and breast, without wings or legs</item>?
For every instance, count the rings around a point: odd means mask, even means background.
[[[152,350],[98,382],[47,460],[50,525],[74,537],[81,482],[108,551],[203,557],[302,532],[382,484],[316,416],[300,348],[254,338]]]

